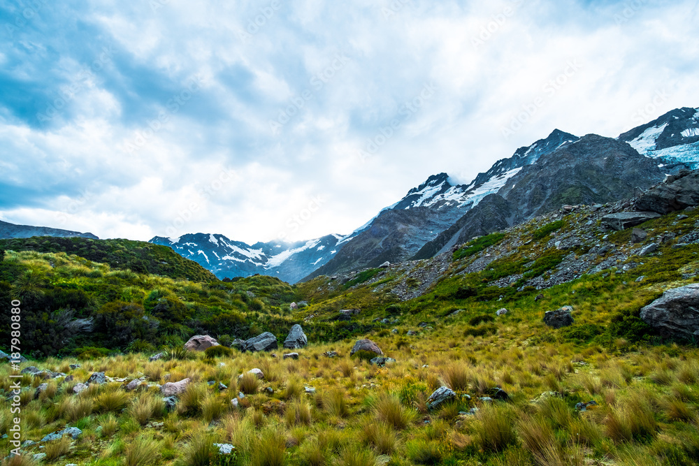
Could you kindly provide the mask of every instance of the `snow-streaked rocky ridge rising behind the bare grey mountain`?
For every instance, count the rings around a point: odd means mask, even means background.
[[[520,147],[510,158],[497,161],[469,184],[452,184],[447,173],[429,177],[419,187],[410,189],[401,201],[344,238],[338,253],[308,278],[410,259],[489,194],[502,189],[524,167],[577,140],[577,136],[556,129],[547,138]]]

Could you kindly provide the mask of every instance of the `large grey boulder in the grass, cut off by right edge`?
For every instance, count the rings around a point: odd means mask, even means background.
[[[698,337],[699,283],[665,291],[641,309],[641,319],[664,335]]]

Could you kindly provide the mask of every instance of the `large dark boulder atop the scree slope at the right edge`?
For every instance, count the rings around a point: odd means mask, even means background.
[[[680,176],[678,180],[668,179],[667,183],[646,191],[635,202],[635,209],[669,214],[699,205],[699,170]]]

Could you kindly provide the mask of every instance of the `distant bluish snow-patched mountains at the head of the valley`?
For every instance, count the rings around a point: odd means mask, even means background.
[[[342,235],[327,235],[310,241],[257,242],[251,246],[224,235],[193,233],[180,238],[156,236],[150,242],[171,247],[220,279],[261,274],[296,283],[329,261],[342,239]]]

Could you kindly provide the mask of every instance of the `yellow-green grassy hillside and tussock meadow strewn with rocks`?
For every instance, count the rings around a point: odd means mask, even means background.
[[[291,323],[302,322],[310,340],[298,360],[282,359],[289,351],[276,357],[221,349],[149,362],[151,352],[131,343],[123,349],[133,354],[24,363],[74,377],[48,381],[36,399],[34,389],[22,394],[25,438],[66,426],[82,430],[77,440],[27,451],[46,453],[51,464],[80,466],[697,464],[696,342],[663,339],[639,318],[663,290],[699,282],[699,245],[682,239],[696,233],[699,212],[682,215],[644,224],[649,237],[639,244],[630,242],[630,231],[598,231],[586,210],[550,216],[433,261],[318,277],[293,288],[269,277],[195,283],[65,254],[8,253],[6,296],[31,299],[66,284],[59,288],[95,300],[94,316],[140,306],[149,319],[162,319],[154,332],[139,334],[149,350],[194,332],[233,335],[237,317],[247,335],[269,330],[282,338]],[[637,255],[660,237],[670,239],[653,254]],[[600,247],[610,252],[594,253]],[[288,311],[291,300],[302,299],[308,306]],[[117,302],[131,307],[115,310]],[[158,307],[164,302],[167,312]],[[575,323],[545,326],[544,313],[563,305],[572,306]],[[503,307],[507,314],[496,316]],[[360,312],[350,321],[337,320],[340,310],[354,308]],[[159,340],[148,340],[150,333]],[[359,337],[396,362],[377,367],[364,354],[350,357]],[[82,337],[73,338],[78,344]],[[82,367],[71,370],[78,362]],[[264,379],[239,378],[255,367]],[[96,371],[113,379],[70,393]],[[187,391],[167,412],[156,384],[185,378]],[[132,379],[141,387],[125,391]],[[7,393],[10,382],[3,380]],[[43,381],[25,375],[23,382]],[[456,398],[429,409],[428,397],[440,386]],[[485,399],[496,387],[507,400]],[[590,401],[584,411],[576,406]],[[2,413],[6,432],[8,409]],[[214,443],[231,444],[235,453],[219,455]]]

